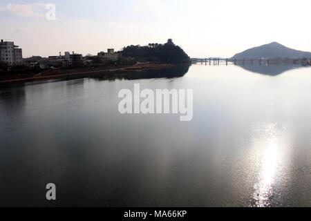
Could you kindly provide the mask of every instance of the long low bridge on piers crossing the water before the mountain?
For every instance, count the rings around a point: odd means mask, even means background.
[[[209,57],[209,58],[196,58],[191,59],[191,62],[194,64],[303,64],[303,59],[294,59],[294,58],[263,58],[263,59],[232,59],[232,58],[219,58],[219,57]],[[306,63],[308,61],[305,61]]]

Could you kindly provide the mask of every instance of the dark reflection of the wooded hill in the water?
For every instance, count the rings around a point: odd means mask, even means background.
[[[160,69],[150,69],[150,70],[140,70],[140,71],[122,71],[122,72],[112,72],[112,73],[102,73],[93,74],[92,78],[101,80],[115,80],[115,79],[151,79],[151,78],[173,78],[182,77],[189,70],[189,66],[174,66],[172,68],[160,68]]]

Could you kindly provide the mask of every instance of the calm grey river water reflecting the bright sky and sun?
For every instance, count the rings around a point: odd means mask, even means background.
[[[2,86],[0,206],[311,206],[311,68],[271,67]],[[194,118],[121,115],[135,83],[194,89]]]

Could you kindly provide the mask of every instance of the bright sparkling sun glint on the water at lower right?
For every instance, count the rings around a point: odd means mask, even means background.
[[[250,206],[272,206],[279,200],[279,187],[288,162],[290,125],[261,123],[254,126],[253,144],[249,150],[256,174]]]

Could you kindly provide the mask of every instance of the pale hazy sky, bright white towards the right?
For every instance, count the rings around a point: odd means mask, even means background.
[[[46,5],[56,20],[46,19]],[[190,57],[231,57],[272,41],[311,51],[310,0],[0,1],[0,38],[23,57],[86,55],[131,44],[181,46]]]

